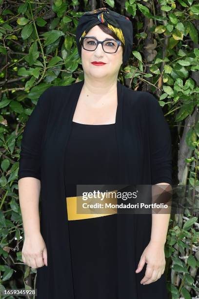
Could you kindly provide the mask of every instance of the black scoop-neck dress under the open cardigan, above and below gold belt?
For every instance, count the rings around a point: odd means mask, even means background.
[[[76,184],[115,184],[115,124],[73,122],[65,154],[66,196]],[[75,299],[117,299],[117,214],[68,220]]]

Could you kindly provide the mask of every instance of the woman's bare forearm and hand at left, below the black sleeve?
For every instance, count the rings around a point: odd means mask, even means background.
[[[47,266],[47,249],[40,234],[40,180],[23,177],[18,182],[20,210],[24,228],[22,260],[33,269]]]

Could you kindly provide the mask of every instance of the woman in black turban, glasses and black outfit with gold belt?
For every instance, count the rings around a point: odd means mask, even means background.
[[[167,298],[169,214],[74,209],[79,184],[172,183],[171,136],[158,101],[118,81],[132,34],[131,21],[107,8],[84,13],[76,35],[84,80],[46,89],[23,132],[22,257],[38,269],[39,299]]]

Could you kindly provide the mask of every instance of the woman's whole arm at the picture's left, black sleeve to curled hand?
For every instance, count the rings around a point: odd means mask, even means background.
[[[24,228],[22,260],[32,268],[47,266],[47,250],[40,234],[41,145],[50,108],[48,88],[40,96],[23,131],[18,173],[20,209]]]

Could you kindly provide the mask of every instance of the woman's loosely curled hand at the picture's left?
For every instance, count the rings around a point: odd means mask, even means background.
[[[25,236],[21,255],[23,262],[33,269],[47,266],[46,245],[40,233]]]

